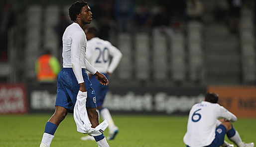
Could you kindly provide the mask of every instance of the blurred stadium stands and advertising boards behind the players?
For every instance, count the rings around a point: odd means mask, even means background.
[[[0,1],[0,114],[53,113],[56,82],[40,84],[35,61],[50,49],[62,65],[72,2]],[[88,2],[88,26],[123,53],[105,103],[114,114],[186,116],[212,91],[239,118],[255,120],[255,0]]]

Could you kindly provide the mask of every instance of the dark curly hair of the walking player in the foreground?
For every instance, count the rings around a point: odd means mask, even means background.
[[[72,5],[68,9],[69,17],[72,21],[76,20],[77,15],[81,12],[82,7],[84,7],[85,5],[88,5],[88,3],[84,0],[79,0],[72,3]]]

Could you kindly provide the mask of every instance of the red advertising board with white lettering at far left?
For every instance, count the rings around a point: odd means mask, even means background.
[[[27,113],[28,103],[23,84],[0,84],[0,114]]]

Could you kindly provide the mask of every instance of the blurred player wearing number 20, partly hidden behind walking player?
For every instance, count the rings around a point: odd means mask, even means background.
[[[98,30],[96,28],[88,28],[86,32],[86,37],[88,40],[86,57],[91,65],[93,65],[99,72],[103,73],[108,78],[108,76],[110,76],[118,66],[122,58],[122,53],[110,42],[104,41],[97,36]],[[110,57],[112,57],[111,62]],[[94,75],[89,77],[90,81],[92,82],[92,87],[96,93],[97,110],[102,118],[104,120],[106,119],[109,123],[109,135],[107,139],[113,140],[119,130],[115,125],[108,108],[103,107],[103,102],[109,87],[101,85]],[[81,140],[93,140],[93,138],[91,136],[85,136],[82,137]]]

